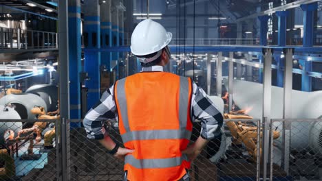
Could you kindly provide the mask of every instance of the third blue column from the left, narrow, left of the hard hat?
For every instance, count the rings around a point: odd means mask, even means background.
[[[100,35],[101,35],[101,48],[108,49],[111,47],[111,0],[107,0],[100,5]],[[105,67],[107,71],[111,69],[111,52],[102,51],[100,53],[100,65]]]

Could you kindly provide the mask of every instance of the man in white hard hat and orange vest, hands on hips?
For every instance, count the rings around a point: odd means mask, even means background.
[[[131,53],[142,71],[115,82],[83,120],[88,138],[124,160],[124,180],[190,180],[187,171],[209,140],[220,135],[223,117],[202,88],[189,77],[163,71],[171,55],[172,34],[151,19],[136,26]],[[121,147],[102,121],[118,119]],[[202,130],[189,145],[193,122]],[[189,145],[189,147],[188,147]]]

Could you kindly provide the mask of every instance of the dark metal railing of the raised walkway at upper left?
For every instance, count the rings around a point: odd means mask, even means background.
[[[58,34],[0,27],[0,49],[58,49]]]

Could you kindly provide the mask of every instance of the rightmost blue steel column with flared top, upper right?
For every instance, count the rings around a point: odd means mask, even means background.
[[[303,47],[312,47],[314,42],[314,11],[317,10],[317,3],[303,4]],[[304,60],[302,69],[302,87],[303,91],[312,91],[312,77],[307,72],[312,71],[312,62]]]

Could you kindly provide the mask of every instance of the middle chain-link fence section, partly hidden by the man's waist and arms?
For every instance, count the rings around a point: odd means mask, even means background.
[[[67,121],[70,122],[81,123]],[[111,138],[122,145],[118,123],[107,121],[105,125]],[[259,120],[255,119],[226,120],[222,134],[211,140],[191,165],[191,180],[256,180],[260,136],[257,125]],[[200,123],[194,123],[191,143],[200,136],[200,129]],[[70,127],[67,137],[70,180],[122,180],[123,163],[107,154],[98,141],[86,138],[83,128]]]

